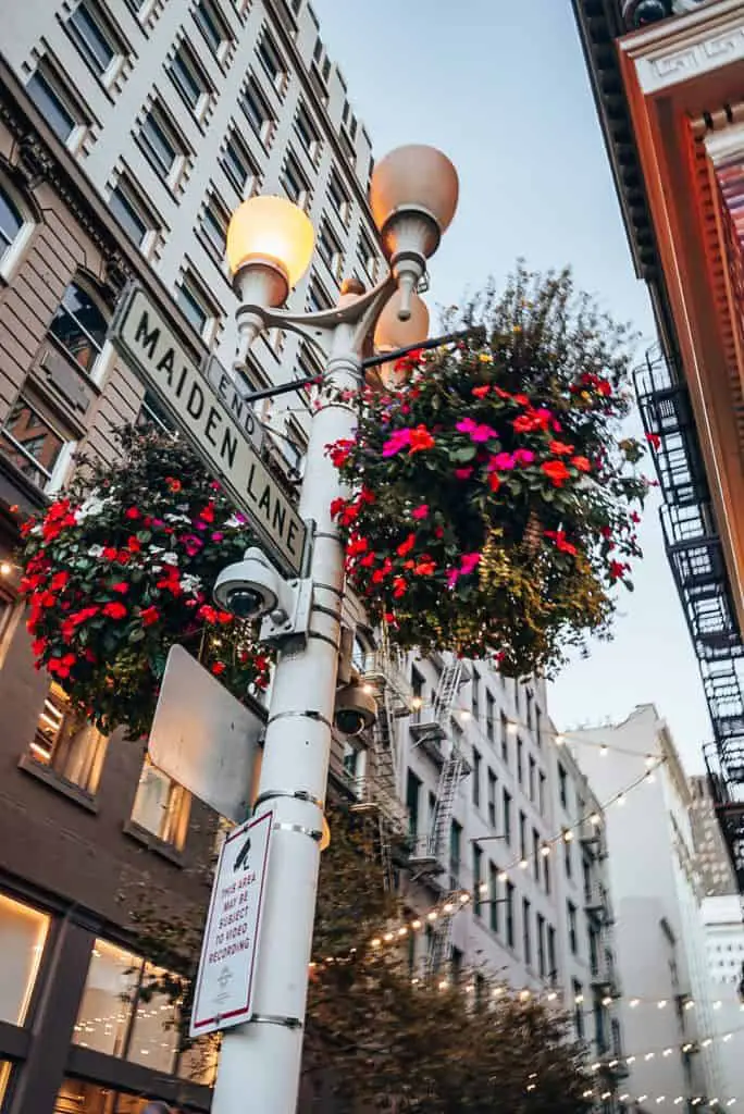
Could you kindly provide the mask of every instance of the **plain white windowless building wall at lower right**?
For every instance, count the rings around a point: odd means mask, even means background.
[[[635,1057],[627,1091],[647,1096],[643,1108],[660,1096],[727,1101],[712,1039],[692,798],[668,727],[644,704],[621,723],[570,732],[569,743],[601,801],[623,794],[607,810],[607,847],[623,1026]]]

